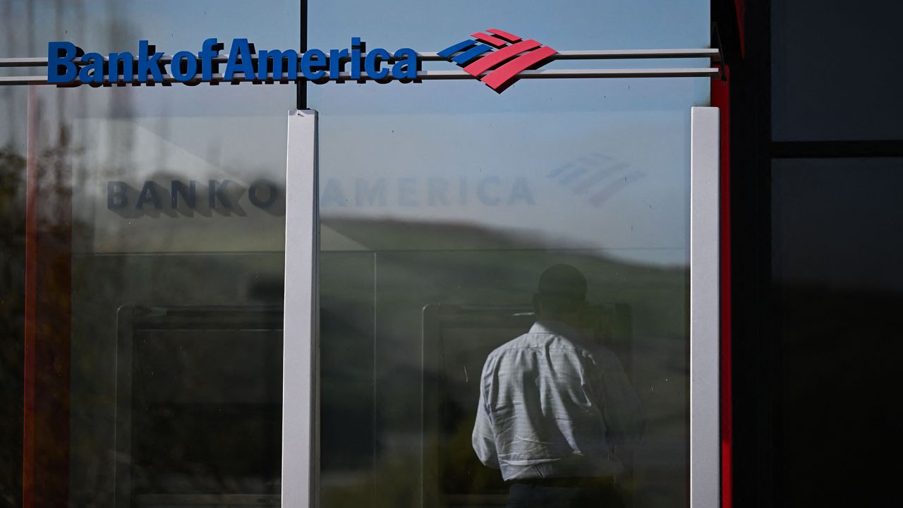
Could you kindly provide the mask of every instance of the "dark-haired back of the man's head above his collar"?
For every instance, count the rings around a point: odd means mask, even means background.
[[[536,318],[577,325],[586,310],[586,278],[571,265],[555,265],[539,277]]]

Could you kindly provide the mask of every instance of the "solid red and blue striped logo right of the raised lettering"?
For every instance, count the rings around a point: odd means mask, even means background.
[[[439,56],[457,63],[465,72],[498,93],[514,84],[520,71],[542,67],[545,60],[556,53],[533,39],[525,41],[498,28],[490,28],[486,33],[473,33],[470,37],[473,39],[445,48]]]

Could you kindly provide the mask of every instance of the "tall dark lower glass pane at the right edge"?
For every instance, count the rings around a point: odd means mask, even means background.
[[[782,491],[788,506],[860,503],[861,489],[824,489],[824,478],[838,453],[851,464],[884,460],[897,428],[887,406],[901,353],[890,337],[903,303],[903,159],[784,159],[772,168],[777,479],[792,485]],[[889,475],[854,468],[843,483],[889,494]]]

